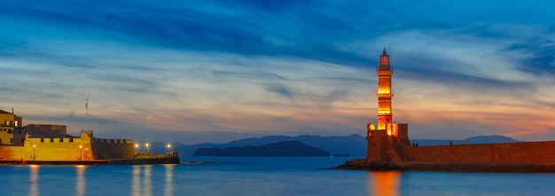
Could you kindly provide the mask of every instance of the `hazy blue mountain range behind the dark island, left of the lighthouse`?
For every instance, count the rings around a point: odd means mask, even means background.
[[[200,148],[228,148],[228,147],[244,147],[244,146],[261,146],[283,141],[300,141],[304,145],[314,146],[332,155],[364,156],[366,154],[366,139],[358,134],[350,136],[338,137],[321,137],[302,135],[297,137],[288,136],[268,136],[268,137],[251,137],[235,140],[226,144],[199,144],[199,145],[181,145],[176,147],[176,151],[180,155],[191,156]]]

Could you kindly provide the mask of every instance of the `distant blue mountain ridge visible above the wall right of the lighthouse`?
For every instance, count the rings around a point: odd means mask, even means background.
[[[468,137],[464,140],[410,139],[410,143],[418,144],[419,146],[449,145],[449,142],[453,145],[473,145],[473,144],[512,143],[512,142],[522,142],[522,141],[515,140],[511,137],[504,137],[504,136],[477,136],[477,137]]]

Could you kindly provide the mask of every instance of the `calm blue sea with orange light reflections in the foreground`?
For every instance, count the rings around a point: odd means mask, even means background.
[[[553,195],[555,174],[331,169],[353,157],[181,157],[174,165],[0,166],[1,195]]]

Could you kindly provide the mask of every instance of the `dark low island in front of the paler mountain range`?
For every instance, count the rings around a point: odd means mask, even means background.
[[[262,146],[200,148],[193,156],[330,156],[330,153],[299,141],[285,141]]]

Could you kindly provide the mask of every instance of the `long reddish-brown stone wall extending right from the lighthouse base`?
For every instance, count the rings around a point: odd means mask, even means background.
[[[555,162],[555,142],[406,146],[410,161]]]

